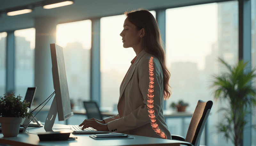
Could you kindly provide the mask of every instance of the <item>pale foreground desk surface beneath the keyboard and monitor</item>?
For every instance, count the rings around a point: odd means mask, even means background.
[[[53,128],[69,128],[68,125],[54,124]],[[53,129],[54,131],[60,131],[57,129]],[[67,129],[63,129],[67,130]],[[90,134],[70,134],[70,137],[77,137],[76,140],[71,141],[40,141],[37,134],[39,132],[45,132],[43,127],[29,127],[27,129],[29,133],[19,133],[17,137],[4,137],[2,133],[0,133],[0,143],[9,144],[14,146],[26,145],[26,146],[80,146],[80,145],[88,145],[88,146],[129,146],[129,145],[140,145],[140,146],[180,146],[181,143],[185,144],[188,142],[181,142],[176,140],[166,140],[161,138],[152,138],[145,136],[136,136],[135,139],[126,139],[126,140],[94,140],[89,137]]]

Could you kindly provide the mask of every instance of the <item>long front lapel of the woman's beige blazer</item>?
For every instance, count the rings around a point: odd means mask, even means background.
[[[121,91],[120,91],[120,96],[119,96],[118,102],[120,101],[121,96],[123,95],[124,89],[126,88],[128,82],[129,82],[129,81],[131,80],[131,78],[132,78],[132,75],[133,75],[133,73],[134,73],[134,70],[135,70],[135,68],[136,68],[137,63],[140,61],[140,58],[141,58],[144,54],[146,54],[146,53],[147,53],[147,52],[143,49],[143,50],[140,52],[140,54],[137,56],[137,58],[135,59],[134,63],[132,64],[132,66],[131,66],[131,68],[130,68],[130,70],[128,71],[128,73],[127,73],[127,75],[126,75],[126,77],[125,77],[125,79],[124,79],[124,83],[123,83],[123,85],[121,85]]]

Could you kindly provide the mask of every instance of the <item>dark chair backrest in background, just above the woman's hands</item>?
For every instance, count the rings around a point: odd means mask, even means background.
[[[84,101],[84,108],[88,119],[102,120],[102,115],[96,102]]]

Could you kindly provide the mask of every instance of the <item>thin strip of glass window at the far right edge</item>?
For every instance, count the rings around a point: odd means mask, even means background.
[[[256,68],[256,0],[251,1],[251,37],[252,37],[252,49],[251,49],[251,57],[252,57],[252,68]],[[255,82],[254,86],[256,86]],[[256,125],[256,108],[253,108],[252,112],[252,125]],[[252,135],[256,135],[256,129],[252,128]],[[252,136],[253,137],[253,136]],[[252,146],[256,146],[256,139],[252,138]]]

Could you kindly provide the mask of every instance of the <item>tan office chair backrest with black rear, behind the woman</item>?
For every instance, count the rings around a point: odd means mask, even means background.
[[[186,142],[190,142],[194,146],[199,146],[201,135],[212,108],[212,101],[204,102],[198,100],[196,109],[192,115],[188,132],[186,135]]]

